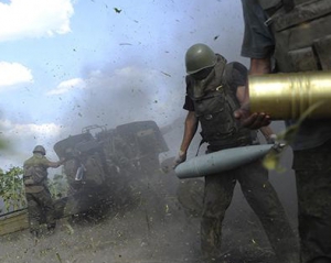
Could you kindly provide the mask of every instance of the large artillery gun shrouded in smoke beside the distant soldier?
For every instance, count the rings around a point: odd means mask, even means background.
[[[58,217],[121,206],[132,196],[132,185],[160,168],[159,154],[168,146],[154,121],[137,121],[107,129],[89,125],[54,145],[68,160],[67,197],[57,202]]]

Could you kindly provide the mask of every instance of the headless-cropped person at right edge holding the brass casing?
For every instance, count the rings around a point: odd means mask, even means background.
[[[250,58],[250,74],[270,73],[271,57],[276,72],[280,73],[331,69],[330,0],[242,0],[242,3],[245,21],[242,55]],[[243,117],[242,113],[238,111],[236,116]],[[244,123],[257,128],[268,118],[254,112]],[[330,263],[331,121],[306,120],[291,147],[301,262]]]

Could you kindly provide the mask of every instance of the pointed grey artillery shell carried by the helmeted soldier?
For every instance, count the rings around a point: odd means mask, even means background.
[[[217,174],[261,158],[273,145],[234,147],[196,156],[178,165],[174,173],[181,179]]]

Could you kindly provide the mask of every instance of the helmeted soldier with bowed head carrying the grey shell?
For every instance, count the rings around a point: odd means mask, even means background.
[[[227,63],[205,44],[195,44],[188,50],[185,66],[188,75],[183,108],[189,112],[174,165],[186,160],[199,123],[203,141],[209,143],[207,153],[252,145],[256,134],[234,118],[234,111],[244,99],[246,67],[237,62]],[[268,127],[261,132],[267,139],[273,134]],[[204,182],[201,249],[206,262],[217,262],[221,257],[222,222],[236,182],[264,226],[279,262],[291,262],[288,248],[296,243],[296,238],[260,161],[222,174],[207,175]]]

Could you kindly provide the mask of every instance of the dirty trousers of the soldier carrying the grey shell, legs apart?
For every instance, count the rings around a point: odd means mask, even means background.
[[[254,162],[218,175],[205,176],[204,209],[201,221],[201,249],[204,257],[221,256],[222,223],[235,184],[241,184],[247,202],[260,220],[277,262],[299,261],[298,240],[261,163]]]

